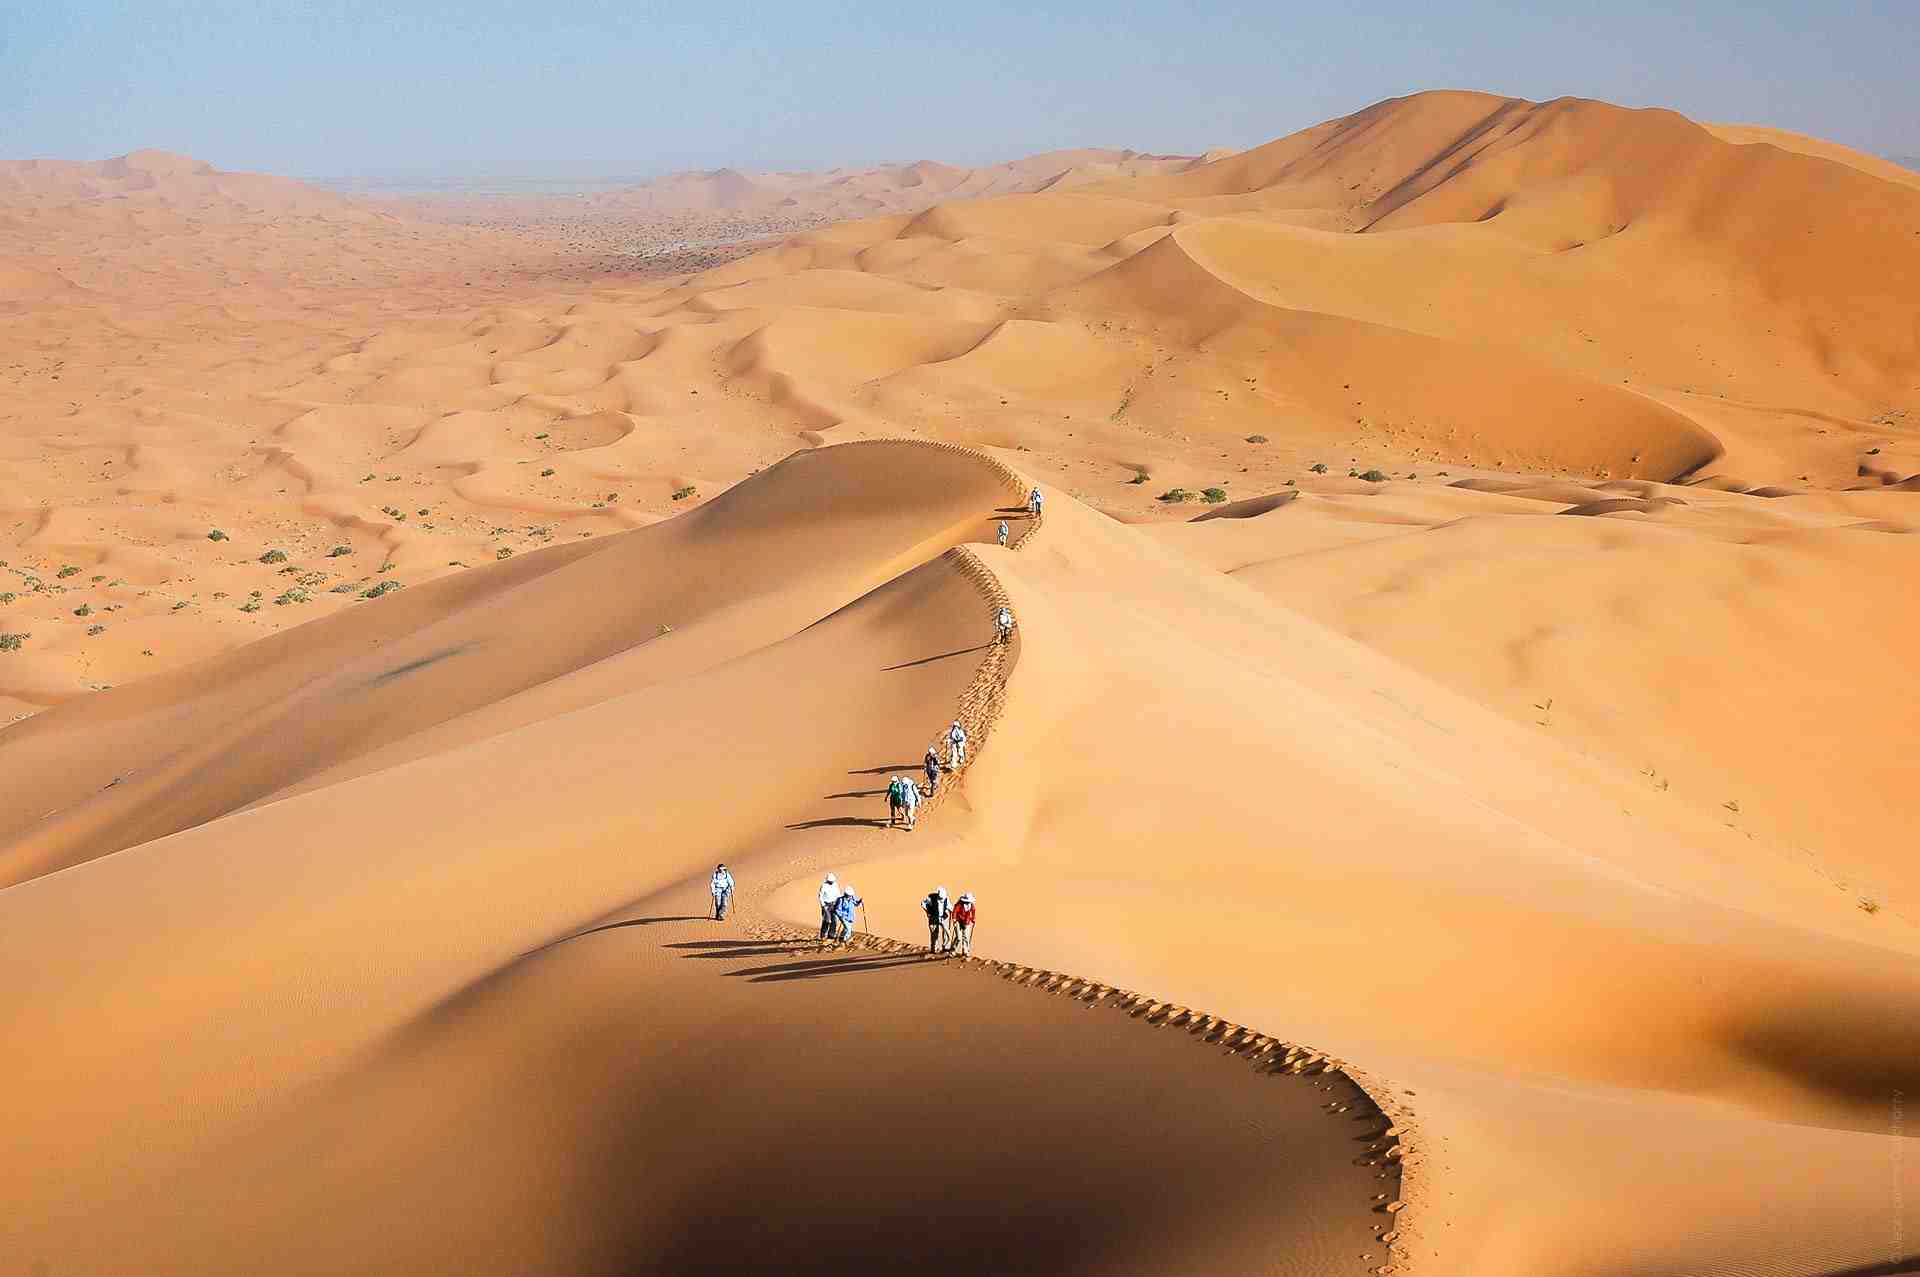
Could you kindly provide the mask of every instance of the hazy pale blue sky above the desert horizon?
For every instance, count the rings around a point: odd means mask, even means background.
[[[1419,88],[1920,154],[1920,0],[0,0],[0,157],[607,177],[1252,146]]]

